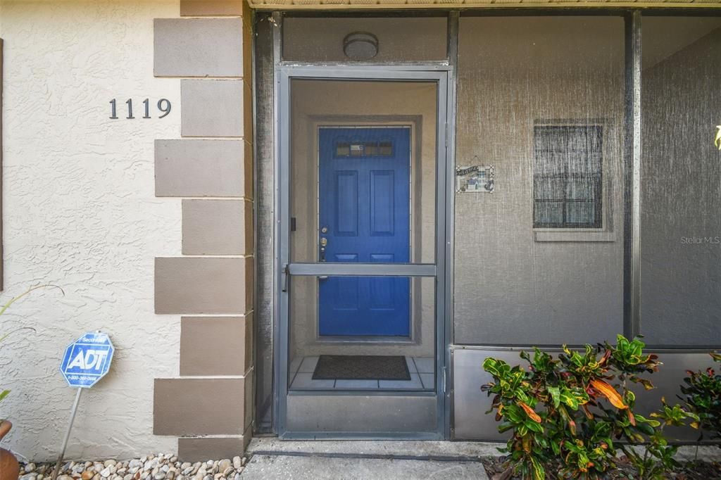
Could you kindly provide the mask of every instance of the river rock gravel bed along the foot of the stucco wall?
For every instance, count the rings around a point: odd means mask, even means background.
[[[246,457],[181,462],[171,453],[119,461],[67,461],[58,480],[239,480]],[[49,480],[55,463],[21,463],[19,480]]]

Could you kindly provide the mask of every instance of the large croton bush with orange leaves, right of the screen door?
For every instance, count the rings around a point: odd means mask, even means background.
[[[483,368],[493,377],[482,386],[493,396],[499,432],[511,432],[507,466],[524,479],[596,479],[616,468],[622,450],[640,479],[664,478],[676,462],[676,447],[663,437],[665,425],[696,419],[679,406],[663,404],[650,418],[634,412],[632,384],[650,389],[640,375],[661,365],[643,352],[639,338],[622,335],[616,345],[585,345],[585,351],[563,347],[553,357],[534,348],[521,352],[528,368],[487,358]],[[645,443],[645,448],[633,444]]]

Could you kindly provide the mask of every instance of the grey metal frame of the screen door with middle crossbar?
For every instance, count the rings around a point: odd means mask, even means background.
[[[290,334],[290,295],[288,285],[296,276],[319,275],[373,275],[376,276],[402,276],[402,277],[433,277],[435,278],[435,391],[304,391],[304,395],[338,396],[435,396],[436,398],[436,430],[435,433],[413,432],[399,435],[376,433],[348,433],[348,435],[333,433],[329,437],[379,438],[400,437],[426,440],[448,438],[450,435],[450,381],[448,365],[450,350],[448,348],[450,336],[447,334],[448,317],[446,308],[448,301],[448,218],[451,218],[451,199],[448,192],[452,191],[453,175],[451,159],[453,143],[451,120],[455,112],[449,110],[453,105],[449,85],[452,81],[452,68],[448,62],[412,64],[412,65],[350,65],[350,66],[322,66],[309,64],[276,64],[275,81],[275,153],[276,153],[276,195],[275,195],[275,272],[278,299],[276,314],[278,315],[278,331],[275,337],[275,417],[276,432],[282,438],[308,438],[308,432],[288,432],[287,425],[287,396],[293,395],[288,391],[288,350]],[[348,80],[348,81],[419,81],[435,82],[437,85],[437,119],[436,119],[436,183],[435,183],[435,263],[418,264],[333,264],[333,263],[306,263],[291,262],[290,258],[290,172],[291,172],[291,81],[293,79],[314,80]],[[317,432],[313,438],[322,437],[323,432]]]

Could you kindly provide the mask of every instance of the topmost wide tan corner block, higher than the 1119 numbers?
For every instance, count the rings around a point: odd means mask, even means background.
[[[155,76],[243,76],[239,17],[156,18],[153,45]]]

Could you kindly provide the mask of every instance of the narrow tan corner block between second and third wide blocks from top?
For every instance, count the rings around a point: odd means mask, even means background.
[[[182,201],[183,254],[243,255],[252,250],[252,203],[245,200]]]

